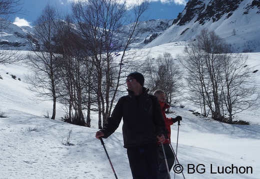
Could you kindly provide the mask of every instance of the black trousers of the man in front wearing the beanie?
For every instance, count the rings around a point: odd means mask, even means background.
[[[158,179],[158,144],[127,147],[133,179]]]

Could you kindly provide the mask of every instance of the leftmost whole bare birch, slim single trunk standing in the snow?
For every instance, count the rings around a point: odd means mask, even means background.
[[[37,48],[31,46],[33,55],[28,56],[28,64],[32,67],[32,74],[27,75],[29,89],[36,91],[41,100],[52,100],[52,116],[55,119],[57,100],[57,59],[55,53],[57,44],[53,41],[57,35],[56,23],[58,10],[47,4],[36,19],[34,35],[39,44]]]

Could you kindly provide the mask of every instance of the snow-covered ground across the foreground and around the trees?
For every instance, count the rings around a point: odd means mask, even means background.
[[[183,48],[168,43],[147,50],[154,57],[168,52],[175,58]],[[26,58],[27,52],[23,53]],[[260,53],[248,55],[248,65],[259,69]],[[114,179],[104,149],[94,137],[97,116],[91,115],[91,128],[64,123],[60,121],[64,108],[58,105],[55,120],[44,118],[51,111],[51,101],[35,100],[26,88],[27,72],[23,63],[0,65],[0,112],[7,116],[0,118],[0,179]],[[260,85],[259,73],[253,75]],[[192,115],[189,110],[196,107],[181,103],[185,107],[171,108],[168,117],[182,116],[179,130],[171,126],[171,144],[175,150],[178,134],[177,159],[185,179],[259,179],[259,111],[235,116],[250,125],[231,125]],[[70,145],[65,145],[69,132]],[[121,126],[104,143],[117,178],[132,179]],[[173,170],[170,175],[173,179]],[[183,177],[176,174],[175,179]]]

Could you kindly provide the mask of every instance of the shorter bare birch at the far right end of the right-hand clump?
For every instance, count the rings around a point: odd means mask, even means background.
[[[221,88],[222,102],[228,111],[228,123],[232,116],[244,110],[259,108],[260,93],[254,81],[252,68],[247,63],[248,56],[243,54],[225,54],[222,58],[223,79]]]

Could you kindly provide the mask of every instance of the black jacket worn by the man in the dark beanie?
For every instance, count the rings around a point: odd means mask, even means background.
[[[148,89],[143,87],[143,93],[135,97],[128,91],[128,95],[118,100],[107,123],[100,130],[104,133],[103,138],[107,138],[118,128],[121,119],[124,148],[156,142],[156,135],[165,134],[158,100],[147,92]]]

